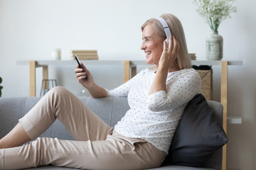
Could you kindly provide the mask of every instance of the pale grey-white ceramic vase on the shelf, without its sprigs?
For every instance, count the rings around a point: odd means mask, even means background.
[[[213,31],[206,38],[206,59],[221,60],[223,58],[223,37],[218,31]]]

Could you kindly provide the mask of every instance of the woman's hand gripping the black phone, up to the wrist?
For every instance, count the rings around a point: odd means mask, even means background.
[[[85,67],[84,64],[82,64],[82,62],[80,62],[80,64],[82,68],[79,68],[78,65],[75,66],[75,76],[77,77],[78,82],[82,84],[82,86],[84,86],[86,89],[90,89],[94,84],[92,74],[90,74],[89,70]],[[87,80],[85,78],[87,78]]]

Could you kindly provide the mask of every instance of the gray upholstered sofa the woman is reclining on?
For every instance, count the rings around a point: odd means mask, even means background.
[[[38,97],[16,97],[16,98],[0,98],[0,138],[4,137],[14,125],[18,123],[18,119],[23,117],[38,101]],[[127,98],[90,98],[80,97],[92,111],[105,120],[111,126],[114,126],[118,120],[129,109]],[[215,101],[208,101],[208,104],[222,121],[223,107]],[[99,107],[100,106],[100,107]],[[72,140],[72,137],[65,130],[65,127],[56,120],[55,123],[41,135],[41,137],[58,137],[59,139]],[[15,164],[15,162],[14,162]],[[162,170],[203,170],[203,169],[222,169],[222,149],[218,149],[206,162],[206,168],[197,168],[189,166],[161,166],[156,169]],[[34,169],[68,169],[56,166],[41,166]]]

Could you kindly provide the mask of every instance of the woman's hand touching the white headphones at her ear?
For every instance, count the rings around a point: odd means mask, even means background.
[[[162,67],[168,70],[176,61],[178,51],[180,49],[180,45],[178,40],[174,36],[171,36],[169,38],[168,49],[166,46],[167,46],[167,43],[164,40],[164,50],[159,60],[159,67]]]

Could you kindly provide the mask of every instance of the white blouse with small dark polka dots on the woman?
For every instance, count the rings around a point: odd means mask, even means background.
[[[166,91],[149,95],[156,69],[143,69],[108,96],[127,97],[129,111],[114,126],[127,137],[138,137],[168,154],[171,140],[184,108],[201,89],[201,78],[195,69],[170,72]]]

